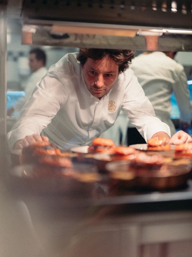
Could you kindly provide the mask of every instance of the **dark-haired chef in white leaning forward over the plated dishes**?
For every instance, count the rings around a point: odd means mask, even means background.
[[[170,139],[169,126],[155,117],[133,71],[133,50],[80,48],[52,65],[21,110],[21,118],[8,133],[10,149],[22,149],[38,140],[61,148],[91,144],[110,128],[121,108],[148,140],[192,142],[179,131]]]

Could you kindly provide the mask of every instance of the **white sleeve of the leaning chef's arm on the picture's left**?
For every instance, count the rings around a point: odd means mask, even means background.
[[[55,117],[64,99],[65,92],[61,83],[54,77],[46,76],[31,99],[23,106],[20,119],[8,133],[9,149],[26,135],[40,135],[43,128],[46,128]]]

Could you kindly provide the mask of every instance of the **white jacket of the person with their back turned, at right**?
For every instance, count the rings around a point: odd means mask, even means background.
[[[172,92],[176,96],[180,120],[191,122],[190,93],[187,77],[181,64],[163,52],[153,52],[138,55],[130,67],[152,103],[156,117],[169,125],[171,136],[176,132],[170,118]],[[131,124],[129,126],[131,127]]]

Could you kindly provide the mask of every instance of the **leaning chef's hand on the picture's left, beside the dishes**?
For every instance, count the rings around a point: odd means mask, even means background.
[[[18,140],[14,146],[13,149],[22,149],[23,147],[27,147],[29,145],[34,144],[37,141],[49,141],[48,137],[40,136],[37,134],[26,136],[23,139]]]

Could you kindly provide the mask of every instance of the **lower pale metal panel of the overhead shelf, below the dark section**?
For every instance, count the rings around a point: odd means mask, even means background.
[[[107,35],[109,29],[106,29],[106,31],[103,26],[101,28],[100,24],[97,28],[97,34],[92,32],[92,28],[95,28],[97,24],[94,24],[94,27],[93,24],[86,24],[86,27],[83,27],[82,23],[76,25],[76,23],[69,24],[67,22],[66,24],[64,22],[64,25],[62,25],[63,23],[59,22],[59,24],[53,26],[25,24],[23,26],[22,44],[152,51],[192,51],[192,35],[159,32],[162,35],[156,36],[153,35],[153,32],[150,32],[149,36],[152,37],[152,41],[157,39],[156,47],[150,48],[150,46],[147,46],[146,36],[139,35],[142,31],[141,27],[111,25],[111,35]],[[84,31],[79,33],[78,31],[82,28],[84,28]],[[152,30],[152,28],[147,29]],[[74,30],[73,33],[70,32],[72,30]],[[115,35],[118,32],[122,32],[124,35]],[[130,35],[132,32],[135,33],[134,37],[126,36],[126,34]],[[103,35],[104,33],[105,35]]]

